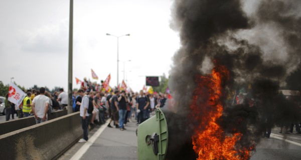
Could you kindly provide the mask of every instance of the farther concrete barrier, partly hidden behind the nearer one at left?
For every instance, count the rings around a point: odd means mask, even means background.
[[[48,120],[67,115],[67,110],[57,110],[48,115]],[[0,135],[36,124],[34,116],[0,123]]]

